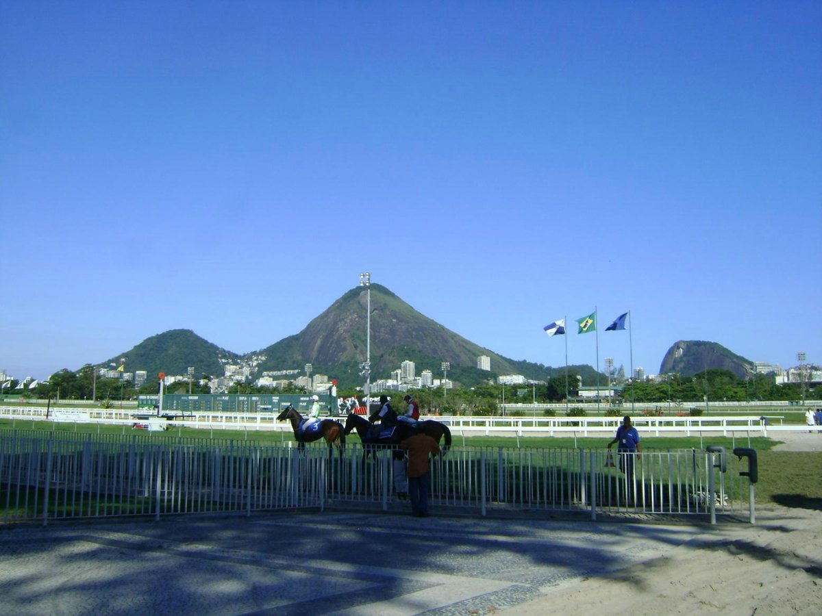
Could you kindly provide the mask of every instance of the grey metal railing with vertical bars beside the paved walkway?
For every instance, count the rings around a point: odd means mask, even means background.
[[[6,431],[0,434],[0,510],[7,522],[44,524],[79,517],[321,510],[330,502],[386,510],[399,503],[391,454],[381,451],[363,462],[358,446],[159,443]],[[685,449],[609,458],[602,449],[450,448],[432,459],[430,499],[434,506],[478,515],[710,514],[713,521],[717,512],[741,513],[751,504],[736,458],[727,457],[725,470],[715,467],[715,455]]]

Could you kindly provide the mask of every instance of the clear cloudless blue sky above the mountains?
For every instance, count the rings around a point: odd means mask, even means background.
[[[12,0],[0,83],[16,378],[254,351],[364,271],[517,360],[597,307],[601,365],[822,363],[819,2]]]

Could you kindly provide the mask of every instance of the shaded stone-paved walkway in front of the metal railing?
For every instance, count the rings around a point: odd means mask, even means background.
[[[487,614],[750,527],[433,513],[7,526],[0,614]]]

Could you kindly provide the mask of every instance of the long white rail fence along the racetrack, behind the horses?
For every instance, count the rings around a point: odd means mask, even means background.
[[[285,431],[291,432],[288,421],[276,421],[270,413],[209,413],[185,418],[150,417],[129,410],[99,408],[52,409],[44,407],[0,407],[0,418],[13,421],[53,421],[56,423],[96,423],[122,425],[123,433],[135,427],[169,430],[176,427],[200,430]],[[344,422],[344,417],[334,417]],[[603,436],[614,434],[621,417],[481,417],[423,416],[450,427],[457,435],[511,436]],[[782,416],[635,416],[633,424],[645,435],[685,434],[746,434],[768,436],[769,432],[822,431],[822,426],[784,424]],[[23,427],[15,425],[14,427]]]

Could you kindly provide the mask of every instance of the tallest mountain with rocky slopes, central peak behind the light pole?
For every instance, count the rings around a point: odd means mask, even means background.
[[[371,285],[372,380],[387,378],[404,360],[413,361],[416,374],[432,370],[439,378],[441,363],[450,362],[449,379],[479,384],[496,375],[520,374],[546,379],[549,369],[541,364],[513,361],[470,342],[421,314],[379,284]],[[249,354],[265,356],[260,370],[300,368],[328,374],[341,384],[360,384],[359,365],[367,347],[366,287],[355,287],[313,319],[302,332]],[[491,371],[479,370],[477,357],[491,358]],[[564,370],[564,368],[562,369]]]

